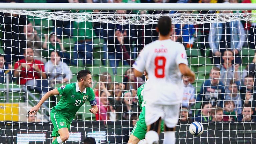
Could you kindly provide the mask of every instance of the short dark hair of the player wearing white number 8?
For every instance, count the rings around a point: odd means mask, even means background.
[[[172,20],[169,16],[161,17],[157,23],[157,28],[159,30],[160,35],[162,36],[168,35],[172,28],[171,25],[172,25]]]

